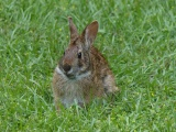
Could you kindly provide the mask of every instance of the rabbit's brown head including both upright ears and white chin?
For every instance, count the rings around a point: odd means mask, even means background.
[[[70,42],[59,61],[59,70],[68,79],[80,79],[91,74],[90,50],[98,32],[98,22],[86,26],[81,35],[78,34],[72,18],[68,18]]]

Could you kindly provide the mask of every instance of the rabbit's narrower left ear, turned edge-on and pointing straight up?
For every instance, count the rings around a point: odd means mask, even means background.
[[[70,16],[68,16],[68,22],[69,22],[69,31],[70,31],[70,41],[75,41],[78,37],[78,31]]]

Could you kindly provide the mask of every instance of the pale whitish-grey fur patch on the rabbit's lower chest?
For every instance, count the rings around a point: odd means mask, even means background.
[[[78,84],[67,82],[62,88],[61,101],[65,107],[74,103],[84,103],[82,87]]]

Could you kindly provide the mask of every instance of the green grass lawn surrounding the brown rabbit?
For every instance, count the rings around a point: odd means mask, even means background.
[[[69,41],[98,20],[95,45],[121,94],[57,116],[51,82]],[[0,131],[176,130],[175,0],[0,0]]]

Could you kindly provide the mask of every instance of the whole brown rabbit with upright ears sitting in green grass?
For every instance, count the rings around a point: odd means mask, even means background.
[[[57,111],[59,102],[70,107],[82,106],[96,97],[118,91],[114,76],[107,61],[92,45],[98,32],[98,22],[86,26],[78,34],[72,18],[68,18],[70,42],[55,68],[53,77],[54,101]]]

